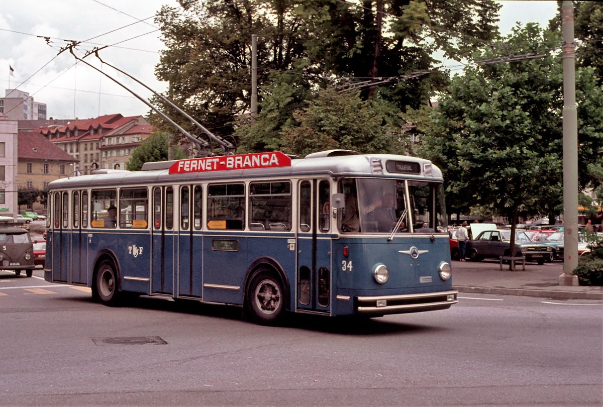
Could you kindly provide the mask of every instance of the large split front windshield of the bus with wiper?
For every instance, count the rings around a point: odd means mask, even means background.
[[[344,178],[345,196],[339,211],[344,233],[446,232],[447,217],[441,183],[383,178]]]

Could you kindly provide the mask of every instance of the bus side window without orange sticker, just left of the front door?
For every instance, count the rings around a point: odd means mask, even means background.
[[[249,185],[249,229],[291,230],[291,182],[255,182]]]

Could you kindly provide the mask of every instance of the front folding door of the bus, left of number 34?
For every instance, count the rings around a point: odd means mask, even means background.
[[[297,309],[330,312],[333,227],[330,182],[302,180],[298,190]]]

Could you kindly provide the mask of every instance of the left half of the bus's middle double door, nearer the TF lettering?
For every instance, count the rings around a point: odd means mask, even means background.
[[[153,188],[151,232],[151,292],[174,293],[174,188]]]

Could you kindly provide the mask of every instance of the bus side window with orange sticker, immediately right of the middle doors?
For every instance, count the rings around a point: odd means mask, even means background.
[[[244,184],[215,184],[207,187],[207,227],[245,229]]]

